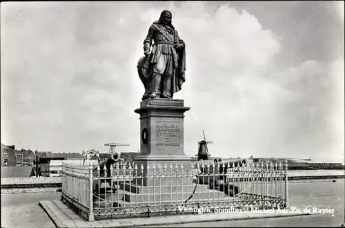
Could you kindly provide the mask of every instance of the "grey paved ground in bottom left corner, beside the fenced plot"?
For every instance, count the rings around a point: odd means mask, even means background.
[[[38,202],[60,198],[61,193],[1,194],[1,227],[55,227]]]

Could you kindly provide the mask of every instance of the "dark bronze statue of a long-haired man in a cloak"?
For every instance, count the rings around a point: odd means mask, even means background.
[[[138,62],[139,77],[145,86],[142,99],[172,98],[186,81],[186,44],[172,26],[170,11],[161,12],[159,20],[150,26],[144,40],[144,55]]]

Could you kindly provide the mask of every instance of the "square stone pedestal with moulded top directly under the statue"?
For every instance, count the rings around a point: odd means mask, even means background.
[[[191,160],[184,153],[184,113],[190,108],[184,106],[183,99],[146,99],[140,103],[140,108],[135,113],[140,115],[140,154],[135,158],[138,167],[138,175],[147,175],[147,168],[152,174],[155,164],[155,174],[164,172],[181,173],[181,165],[184,171],[191,171]],[[141,165],[144,172],[141,173]],[[147,182],[144,181],[147,186]]]

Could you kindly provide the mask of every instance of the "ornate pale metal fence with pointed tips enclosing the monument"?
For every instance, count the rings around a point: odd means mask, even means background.
[[[62,198],[87,220],[288,207],[287,162],[192,162],[191,170],[158,164],[146,171],[130,164],[102,171],[97,162],[65,161]]]

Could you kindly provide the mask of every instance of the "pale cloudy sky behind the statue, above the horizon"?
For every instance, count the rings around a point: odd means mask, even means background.
[[[2,2],[1,143],[138,151],[137,61],[162,10],[186,43],[184,152],[344,161],[344,1]]]

